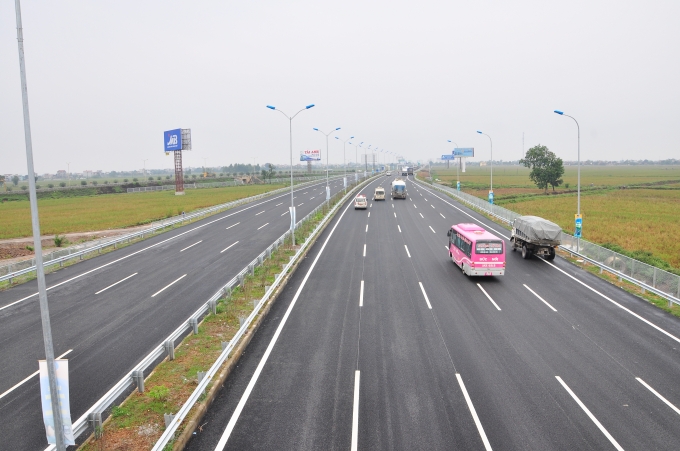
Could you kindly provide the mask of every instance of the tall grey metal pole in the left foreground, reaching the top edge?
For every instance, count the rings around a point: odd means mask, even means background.
[[[35,171],[33,170],[33,141],[31,139],[31,118],[28,112],[28,89],[26,87],[26,63],[24,61],[24,32],[21,24],[20,0],[15,0],[17,41],[19,46],[19,72],[21,76],[21,100],[24,111],[24,139],[26,141],[26,164],[28,166],[28,197],[31,202],[31,225],[33,226],[33,249],[35,251],[35,273],[38,279],[38,299],[40,302],[40,320],[42,323],[45,361],[47,363],[47,379],[50,387],[50,407],[54,420],[54,438],[57,451],[66,450],[66,437],[62,418],[61,398],[57,390],[57,375],[54,361],[54,345],[52,343],[52,325],[47,303],[47,286],[45,269],[43,268],[42,240],[40,239],[40,219],[38,218],[38,198],[35,193]]]

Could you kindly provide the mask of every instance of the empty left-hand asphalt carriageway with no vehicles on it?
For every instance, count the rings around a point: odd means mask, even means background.
[[[325,201],[325,185],[295,190],[298,221]],[[342,189],[331,180],[331,195]],[[290,192],[260,199],[48,274],[72,420],[285,233],[289,206]],[[47,446],[36,375],[44,355],[37,282],[0,292],[0,449]]]

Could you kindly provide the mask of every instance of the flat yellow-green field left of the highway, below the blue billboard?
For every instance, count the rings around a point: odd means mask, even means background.
[[[132,194],[104,194],[91,197],[40,199],[40,231],[43,235],[92,232],[146,224],[232,200],[272,191],[283,185],[249,185]],[[31,236],[30,203],[0,203],[0,239]]]

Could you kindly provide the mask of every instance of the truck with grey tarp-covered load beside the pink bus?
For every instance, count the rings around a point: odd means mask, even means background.
[[[538,216],[520,216],[512,223],[510,245],[513,251],[522,250],[522,258],[536,254],[553,260],[561,239],[562,228]]]

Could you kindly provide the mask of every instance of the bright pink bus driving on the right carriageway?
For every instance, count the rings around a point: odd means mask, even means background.
[[[505,243],[477,224],[451,226],[449,257],[468,276],[505,274]]]

